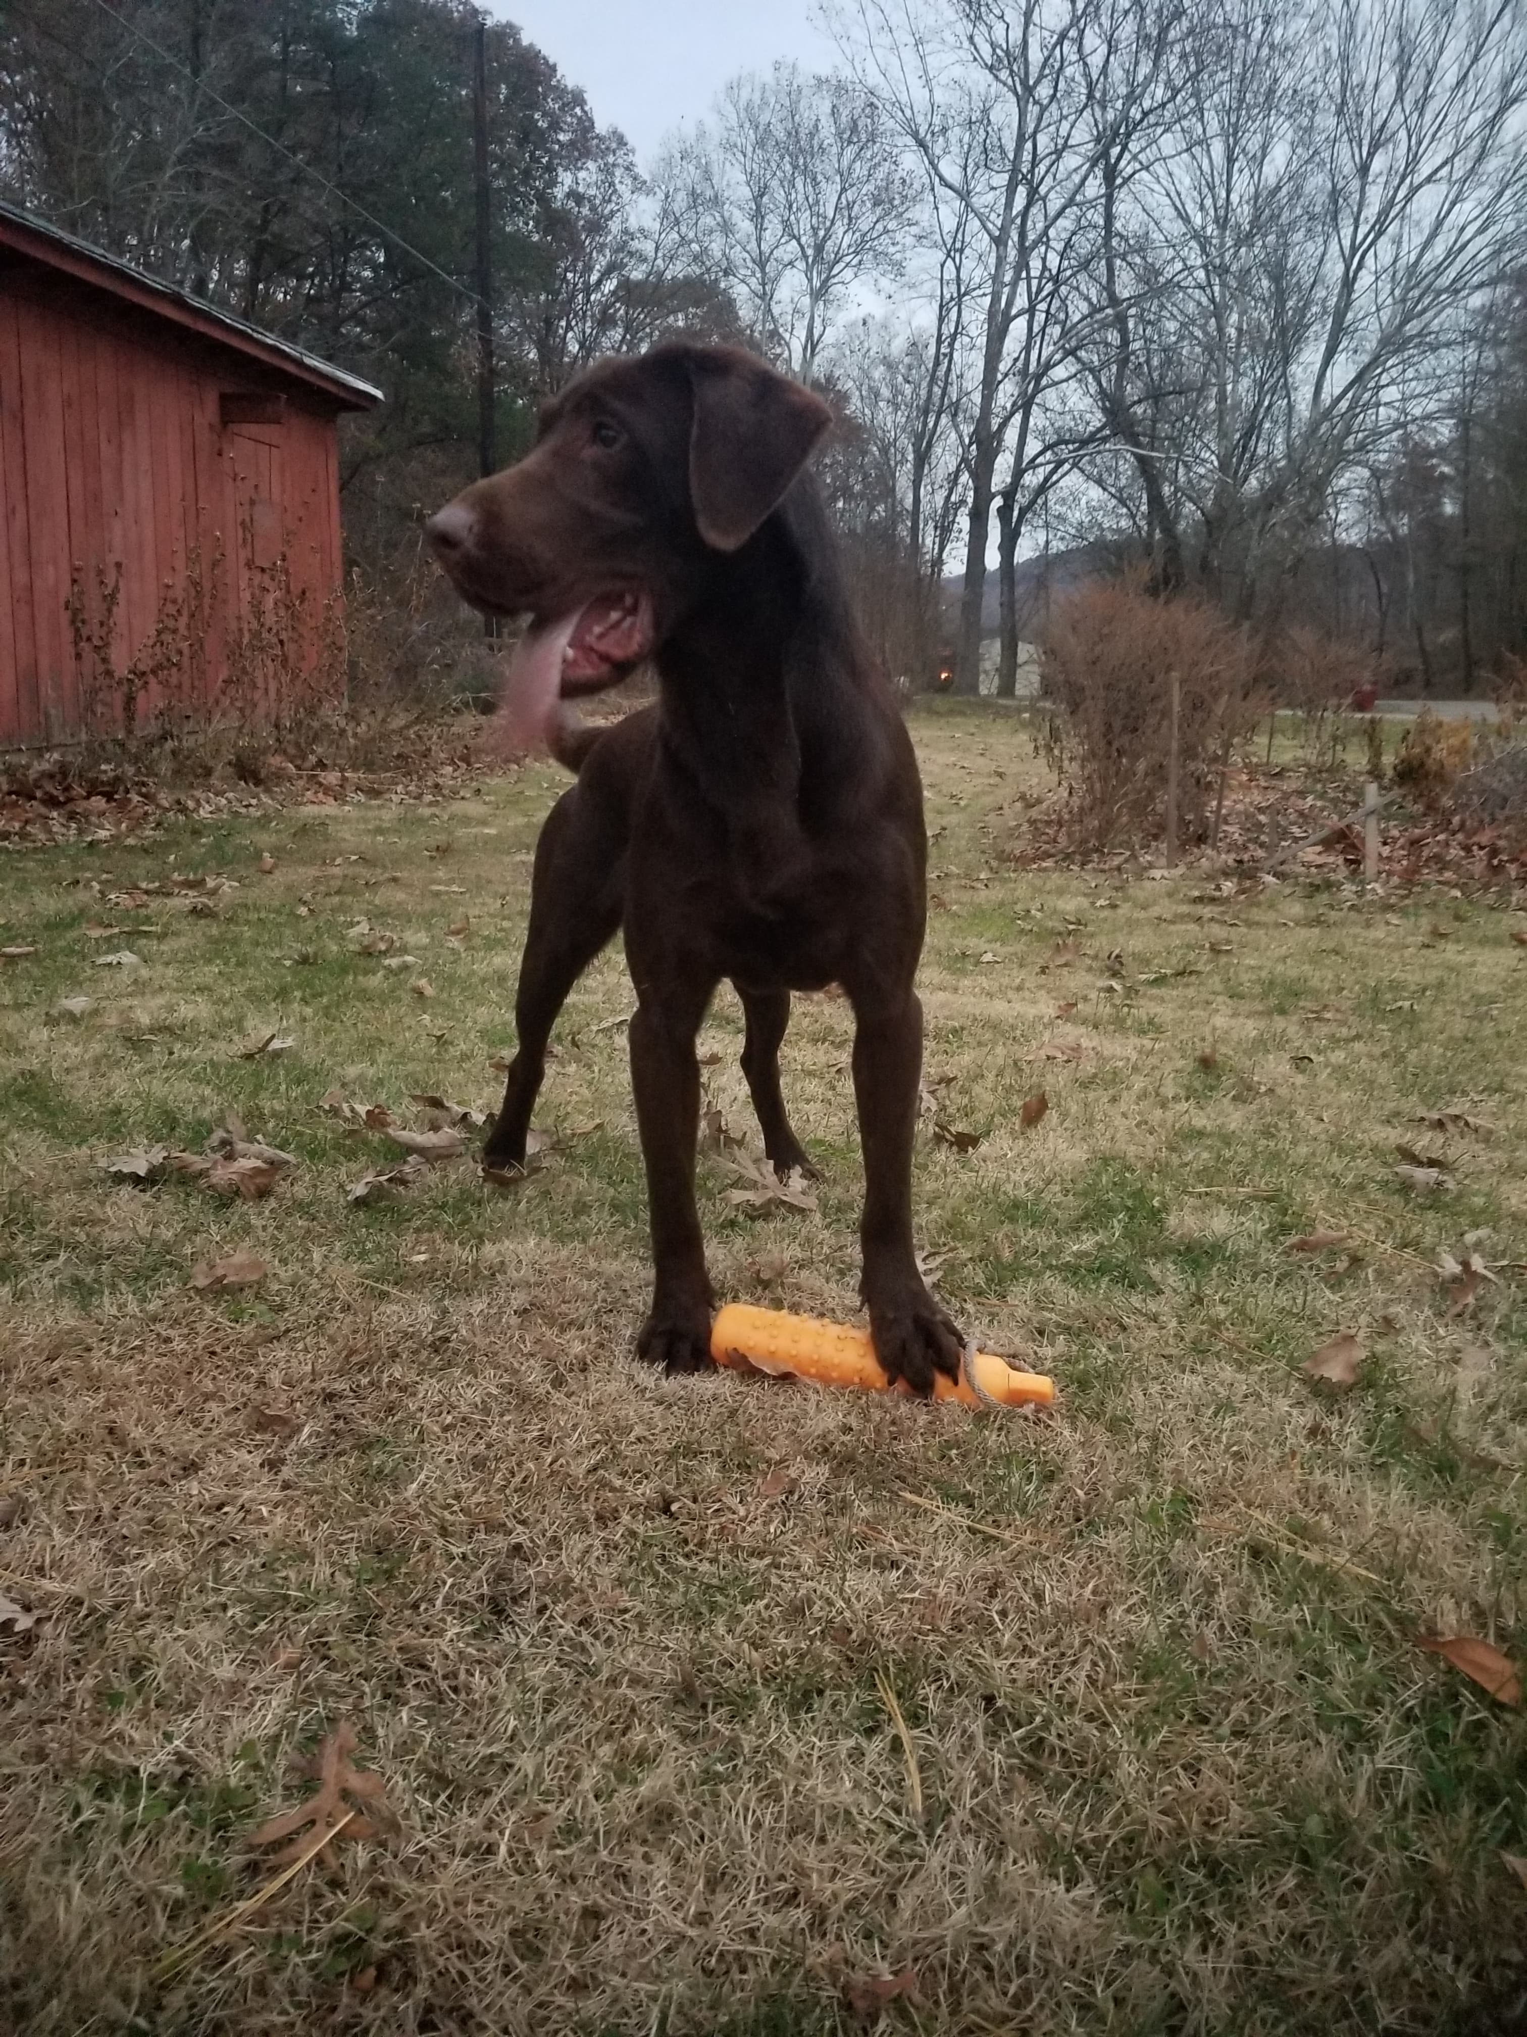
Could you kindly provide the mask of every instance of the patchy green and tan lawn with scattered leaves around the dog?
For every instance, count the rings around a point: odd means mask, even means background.
[[[0,858],[0,2025],[1525,2027],[1527,1723],[1417,1642],[1527,1658],[1527,917],[1030,872],[1016,717],[916,735],[920,1245],[1053,1418],[635,1363],[619,953],[527,1181],[348,1200],[497,1102],[550,768]],[[814,1212],[700,1161],[727,1298],[855,1310],[849,1039]],[[263,1200],[157,1161],[230,1112]],[[238,1917],[340,1725],[375,1835]]]

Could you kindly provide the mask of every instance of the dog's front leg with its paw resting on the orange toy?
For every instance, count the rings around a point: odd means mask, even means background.
[[[849,992],[853,996],[853,992]],[[959,1377],[961,1334],[928,1293],[912,1247],[912,1139],[922,1073],[922,1006],[855,998],[853,1096],[863,1147],[863,1275],[875,1355],[892,1379],[932,1391],[935,1369]]]

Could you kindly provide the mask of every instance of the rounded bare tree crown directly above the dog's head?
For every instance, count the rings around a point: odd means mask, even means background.
[[[735,77],[656,183],[666,238],[802,381],[853,291],[896,273],[914,189],[875,102],[794,63]]]

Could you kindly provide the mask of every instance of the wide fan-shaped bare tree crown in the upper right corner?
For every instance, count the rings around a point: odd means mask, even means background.
[[[1275,613],[1342,475],[1439,416],[1519,251],[1527,16],[1205,0],[1195,45],[1175,147],[1106,191],[1095,391],[1163,583]]]

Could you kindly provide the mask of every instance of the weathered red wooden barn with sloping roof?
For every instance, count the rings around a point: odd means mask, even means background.
[[[316,672],[336,420],[379,401],[0,204],[0,744],[269,711],[277,668]]]

